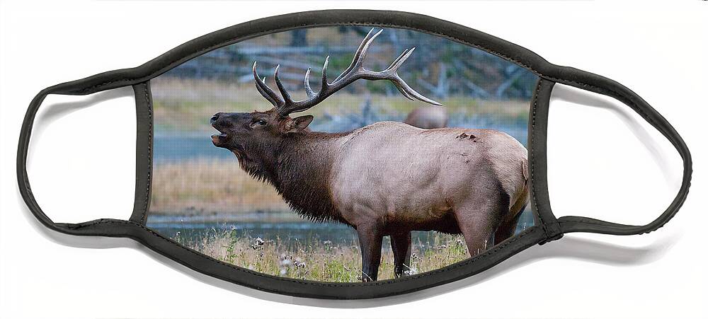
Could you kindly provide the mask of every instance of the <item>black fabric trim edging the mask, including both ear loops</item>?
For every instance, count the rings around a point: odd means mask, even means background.
[[[137,221],[140,214],[144,216],[142,211],[134,211],[130,221],[121,221],[116,219],[98,219],[81,224],[64,224],[55,223],[39,207],[35,201],[34,195],[30,188],[26,170],[27,151],[30,142],[30,134],[35,119],[35,114],[42,103],[42,100],[48,94],[68,94],[68,95],[86,95],[105,91],[121,86],[135,86],[136,93],[138,91],[148,91],[147,81],[159,76],[173,66],[181,64],[188,59],[196,57],[207,51],[230,45],[235,42],[246,40],[252,37],[258,37],[268,33],[276,33],[283,30],[294,28],[329,26],[329,25],[376,25],[382,27],[407,28],[418,30],[424,33],[439,35],[464,45],[477,47],[492,54],[496,54],[510,62],[524,66],[533,71],[537,76],[544,79],[539,81],[538,93],[535,98],[535,110],[547,110],[548,97],[547,86],[551,85],[549,81],[564,83],[570,86],[583,88],[588,91],[612,96],[623,103],[629,105],[635,112],[644,117],[661,132],[675,148],[679,151],[684,161],[684,176],[683,184],[680,192],[673,203],[661,214],[661,216],[652,223],[645,226],[629,226],[598,221],[595,219],[587,219],[577,216],[564,216],[557,221],[550,216],[552,213],[549,210],[550,204],[547,197],[542,197],[541,193],[547,193],[547,185],[545,180],[532,179],[533,194],[532,201],[536,204],[532,205],[538,216],[543,216],[541,225],[532,226],[520,235],[509,238],[503,243],[494,246],[485,253],[476,255],[475,257],[458,262],[455,265],[450,265],[435,271],[416,274],[411,277],[401,279],[392,279],[387,281],[370,282],[370,283],[327,283],[327,282],[309,282],[297,279],[287,279],[282,277],[273,277],[258,272],[252,272],[248,269],[235,267],[233,265],[220,262],[206,255],[202,255],[194,250],[189,250],[181,245],[178,245],[169,238],[164,238],[159,233],[146,228],[141,221]],[[137,85],[137,86],[136,86]],[[149,91],[148,91],[149,92]],[[148,98],[149,99],[149,98]],[[142,100],[136,99],[136,100]],[[137,103],[144,103],[142,102]],[[149,104],[149,100],[147,102]],[[139,107],[140,108],[140,107]],[[144,110],[144,109],[143,109]],[[139,112],[139,116],[145,116],[144,112]],[[537,114],[538,115],[538,114]],[[537,117],[535,129],[532,129],[530,137],[537,134],[537,130],[543,130],[545,134],[546,117]],[[139,120],[141,121],[141,120]],[[142,119],[144,125],[145,119]],[[140,123],[140,122],[139,122]],[[138,132],[141,134],[141,132]],[[144,132],[142,132],[144,141]],[[544,137],[544,135],[543,135]],[[149,139],[149,138],[148,138]],[[540,141],[541,136],[537,139],[531,139],[530,148],[534,149],[536,141]],[[139,142],[142,143],[142,142]],[[143,144],[140,144],[144,146]],[[140,151],[140,150],[139,150]],[[143,149],[144,151],[144,149]],[[148,151],[149,152],[149,151]],[[545,175],[541,172],[545,168],[545,159],[539,153],[534,153],[532,156],[532,166],[535,168],[535,178]],[[149,154],[147,156],[149,158]],[[138,160],[140,161],[140,160]],[[621,84],[598,76],[590,74],[586,71],[569,68],[566,66],[556,66],[545,61],[537,54],[526,50],[523,47],[506,42],[497,37],[481,33],[477,30],[466,28],[462,25],[442,21],[437,18],[423,16],[416,13],[404,13],[397,11],[365,11],[365,10],[329,10],[329,11],[309,11],[302,13],[292,13],[283,16],[274,16],[263,18],[256,21],[241,23],[229,28],[218,30],[214,33],[198,37],[195,40],[187,42],[179,47],[176,47],[160,57],[153,59],[150,62],[132,69],[120,69],[108,71],[95,76],[90,76],[86,79],[57,84],[50,88],[45,88],[40,91],[32,100],[25,114],[23,126],[21,128],[20,139],[18,143],[17,153],[17,176],[18,185],[21,195],[27,203],[28,208],[36,216],[36,218],[48,228],[62,233],[69,233],[79,236],[110,236],[110,237],[127,237],[132,238],[148,248],[165,255],[166,257],[179,262],[182,265],[190,267],[198,272],[224,279],[229,282],[252,287],[253,289],[270,291],[278,294],[287,294],[291,296],[302,296],[312,298],[378,298],[384,296],[392,296],[395,294],[404,294],[411,291],[426,289],[432,286],[438,286],[447,282],[452,282],[457,279],[472,276],[496,265],[498,262],[506,260],[506,258],[529,248],[536,243],[544,243],[547,240],[556,238],[555,229],[556,222],[562,233],[571,231],[590,231],[595,233],[614,233],[619,235],[629,235],[633,233],[646,233],[661,227],[666,223],[679,207],[685,201],[691,177],[691,157],[683,139],[671,127],[661,115],[653,110],[649,104],[641,100],[638,95],[630,91]],[[142,191],[147,194],[149,192],[149,166],[137,166],[138,178],[146,178],[144,183],[138,181],[138,185],[146,185]],[[142,192],[137,194],[142,196]],[[138,197],[136,197],[139,202]],[[138,204],[138,203],[137,203]],[[538,211],[540,209],[540,211]],[[548,209],[548,210],[547,210]],[[539,214],[540,213],[540,214]],[[140,216],[140,219],[142,219]]]

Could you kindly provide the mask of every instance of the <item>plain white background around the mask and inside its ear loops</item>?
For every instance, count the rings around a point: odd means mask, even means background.
[[[496,35],[550,62],[615,79],[682,134],[695,173],[680,213],[643,236],[569,234],[482,274],[375,301],[276,296],[210,279],[126,239],[47,231],[15,175],[20,124],[46,86],[132,67],[229,25],[321,8],[405,10]],[[708,2],[88,1],[0,4],[0,314],[52,317],[689,318],[708,316]],[[99,102],[96,104],[96,102]],[[71,102],[70,104],[66,104]],[[93,108],[86,106],[96,104]],[[582,106],[589,104],[590,106]],[[556,88],[549,185],[556,215],[646,223],[678,190],[670,144],[629,108]],[[127,219],[135,105],[130,88],[47,98],[30,180],[55,221]]]

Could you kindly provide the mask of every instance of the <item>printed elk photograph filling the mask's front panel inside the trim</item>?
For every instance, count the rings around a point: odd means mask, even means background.
[[[301,28],[212,50],[150,81],[146,226],[234,266],[321,282],[467,260],[535,222],[537,81],[397,28]]]

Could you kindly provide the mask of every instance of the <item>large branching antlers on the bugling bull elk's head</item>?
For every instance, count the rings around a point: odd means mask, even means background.
[[[413,54],[413,50],[416,50],[415,47],[404,50],[404,52],[401,53],[401,55],[399,55],[399,57],[397,57],[394,62],[383,71],[370,71],[362,66],[371,42],[373,42],[374,39],[383,32],[383,30],[379,30],[379,32],[372,35],[373,32],[374,29],[371,29],[369,33],[367,33],[364,40],[362,40],[359,45],[359,48],[354,53],[352,63],[349,64],[348,68],[344,70],[342,74],[337,76],[332,83],[327,82],[327,64],[329,64],[329,56],[324,59],[324,66],[322,66],[322,87],[319,92],[315,93],[312,91],[312,88],[309,85],[310,69],[307,69],[304,79],[307,98],[304,100],[294,101],[290,98],[290,94],[285,91],[285,87],[278,78],[278,69],[280,68],[280,64],[275,66],[275,74],[273,74],[273,76],[275,78],[275,84],[278,86],[278,91],[280,91],[280,95],[282,95],[282,97],[276,94],[272,89],[270,89],[270,87],[268,87],[267,84],[265,84],[265,77],[263,77],[263,79],[258,77],[258,72],[256,71],[256,64],[258,62],[253,62],[253,78],[256,80],[256,89],[266,100],[268,100],[268,102],[275,106],[278,110],[278,114],[283,117],[292,112],[300,112],[312,108],[314,105],[317,105],[326,99],[329,95],[332,95],[336,91],[341,90],[358,79],[366,79],[371,81],[389,80],[394,83],[399,91],[401,91],[401,94],[410,100],[421,100],[433,105],[441,105],[440,103],[430,100],[429,98],[421,95],[421,93],[413,90],[413,88],[411,88],[406,81],[403,81],[401,76],[397,73],[399,67],[401,67],[401,64],[403,64],[403,62],[405,62],[406,59]]]

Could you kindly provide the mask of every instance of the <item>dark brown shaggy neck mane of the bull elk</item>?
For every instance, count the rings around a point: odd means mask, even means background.
[[[263,149],[253,152],[267,154],[263,158],[239,156],[239,161],[253,178],[273,185],[285,202],[301,216],[313,221],[340,221],[346,224],[333,203],[329,187],[336,155],[333,142],[346,134],[290,134],[278,145],[264,145]]]

